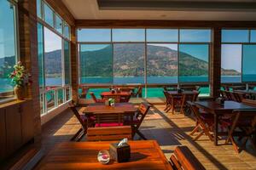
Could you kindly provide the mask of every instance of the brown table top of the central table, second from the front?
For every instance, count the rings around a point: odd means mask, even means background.
[[[84,113],[115,113],[115,112],[124,112],[124,113],[135,113],[137,108],[131,103],[115,103],[114,106],[108,106],[105,104],[97,105],[88,105],[84,108]]]

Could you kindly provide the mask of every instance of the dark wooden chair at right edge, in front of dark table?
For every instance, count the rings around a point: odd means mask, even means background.
[[[256,145],[253,141],[253,135],[256,134],[256,110],[235,110],[232,112],[229,134],[226,139],[225,144],[231,141],[234,149],[237,153],[241,151],[242,148],[246,147],[247,140],[253,145],[253,149],[256,150]],[[239,131],[238,131],[239,129]],[[236,144],[235,136],[239,139],[244,138],[244,142],[241,144],[241,148]]]

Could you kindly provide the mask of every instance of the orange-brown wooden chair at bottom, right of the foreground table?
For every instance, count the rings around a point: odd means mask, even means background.
[[[205,170],[201,162],[193,155],[187,146],[177,146],[170,157],[173,169],[178,170]]]

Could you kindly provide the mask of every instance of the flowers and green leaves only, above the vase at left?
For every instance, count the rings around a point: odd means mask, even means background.
[[[26,72],[25,66],[20,61],[14,66],[14,69],[15,71],[9,74],[14,86],[24,87],[32,83],[31,75]]]

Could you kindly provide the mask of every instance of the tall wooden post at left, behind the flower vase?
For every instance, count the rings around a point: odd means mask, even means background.
[[[37,1],[18,1],[18,26],[20,43],[20,61],[32,74],[32,85],[28,87],[26,98],[32,99],[34,139],[36,144],[41,144],[41,117],[38,85],[38,26],[37,26]]]

